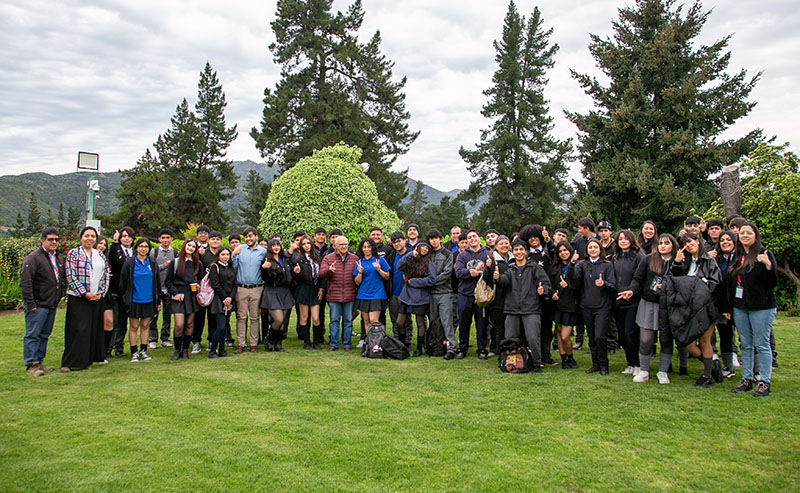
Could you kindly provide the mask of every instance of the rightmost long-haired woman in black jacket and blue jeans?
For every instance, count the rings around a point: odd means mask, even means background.
[[[742,224],[736,258],[728,274],[732,281],[728,297],[742,341],[742,379],[734,387],[735,393],[741,394],[753,388],[754,357],[758,358],[759,379],[753,396],[767,397],[771,390],[772,349],[769,337],[777,309],[776,266],[775,256],[761,244],[758,227],[751,222]]]

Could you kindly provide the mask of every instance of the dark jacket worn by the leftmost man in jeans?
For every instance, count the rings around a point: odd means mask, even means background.
[[[56,265],[58,266],[58,281],[53,273],[49,254],[42,248],[29,253],[22,261],[22,271],[19,275],[19,290],[22,292],[22,301],[28,309],[31,308],[56,308],[61,300],[61,287],[64,286],[67,274],[64,271],[64,257],[58,250],[55,251]]]

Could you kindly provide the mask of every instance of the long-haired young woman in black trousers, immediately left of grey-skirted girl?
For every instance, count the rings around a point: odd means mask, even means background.
[[[628,290],[633,275],[644,258],[631,230],[623,229],[617,232],[614,241],[614,273],[617,276],[617,289],[620,292]],[[639,368],[639,327],[636,325],[638,308],[639,298],[636,296],[626,300],[618,294],[614,301],[614,320],[617,322],[619,341],[625,351],[627,362],[622,371],[623,375],[633,375]]]

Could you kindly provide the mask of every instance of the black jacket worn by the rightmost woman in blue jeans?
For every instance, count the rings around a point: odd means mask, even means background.
[[[762,248],[759,253],[764,253]],[[775,287],[778,285],[778,263],[772,252],[767,252],[772,269],[756,262],[750,270],[741,267],[741,257],[734,259],[733,268],[728,271],[728,304],[740,310],[768,310],[778,306]],[[741,284],[742,298],[736,297],[736,287]]]

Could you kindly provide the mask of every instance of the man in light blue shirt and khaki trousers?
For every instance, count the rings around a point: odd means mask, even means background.
[[[261,264],[267,251],[258,246],[258,232],[256,228],[248,226],[244,230],[244,243],[233,251],[233,266],[236,267],[236,340],[238,347],[236,354],[244,351],[245,332],[247,331],[247,318],[250,317],[250,352],[258,351],[258,316],[261,308],[261,291],[264,289],[264,280],[261,278]]]

